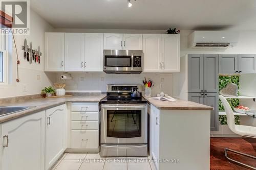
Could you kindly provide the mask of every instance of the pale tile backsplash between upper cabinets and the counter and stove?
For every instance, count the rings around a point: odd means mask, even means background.
[[[66,90],[87,90],[87,91],[106,91],[107,84],[141,84],[144,77],[154,81],[155,85],[152,87],[152,95],[164,93],[172,95],[173,93],[173,75],[172,74],[138,74],[138,75],[119,75],[119,74],[105,74],[104,72],[93,73],[79,73],[73,72],[72,80],[61,80],[62,73],[56,74],[53,83],[65,83]],[[144,90],[144,88],[143,88]]]

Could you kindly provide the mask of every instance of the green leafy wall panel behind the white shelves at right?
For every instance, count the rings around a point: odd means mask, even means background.
[[[219,76],[219,89],[226,87],[228,83],[235,83],[238,85],[238,95],[239,95],[239,75],[232,75],[232,76]],[[227,99],[230,106],[235,107],[239,105],[239,99]],[[222,105],[221,101],[219,100],[219,111],[224,111],[224,106]],[[225,115],[219,116],[219,121],[221,125],[227,125],[227,117]],[[234,122],[236,125],[240,124],[240,117],[234,116]]]

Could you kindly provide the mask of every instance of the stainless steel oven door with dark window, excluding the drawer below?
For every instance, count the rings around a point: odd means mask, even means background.
[[[147,105],[101,105],[102,144],[147,143]]]

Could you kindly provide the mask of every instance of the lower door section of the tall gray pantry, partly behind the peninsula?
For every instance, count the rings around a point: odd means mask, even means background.
[[[188,93],[188,100],[203,105],[211,106],[210,130],[218,131],[219,128],[219,94],[218,93]]]

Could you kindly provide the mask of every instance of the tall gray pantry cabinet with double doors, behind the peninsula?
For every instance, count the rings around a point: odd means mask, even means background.
[[[188,100],[214,107],[211,131],[218,131],[219,55],[188,55]]]

